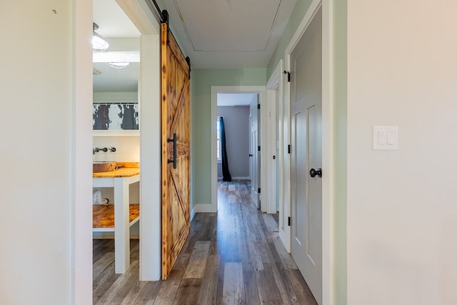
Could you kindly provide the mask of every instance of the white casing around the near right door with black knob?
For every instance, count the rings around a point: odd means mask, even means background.
[[[331,0],[312,1],[286,47],[285,66],[287,71],[291,70],[291,53],[320,7],[322,7],[322,303],[331,305],[335,303],[333,285],[333,2]],[[286,83],[285,87],[284,99],[290,104],[290,83]],[[291,116],[290,109],[288,110],[287,136],[290,144]],[[290,162],[288,169],[290,176]],[[290,184],[283,191],[290,200]]]

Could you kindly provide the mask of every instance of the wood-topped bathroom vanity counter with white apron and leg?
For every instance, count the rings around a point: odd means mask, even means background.
[[[121,165],[118,163],[118,165]],[[140,181],[140,169],[129,167],[94,173],[94,187],[114,188],[114,265],[116,274],[124,274],[130,266],[129,186]],[[121,165],[122,166],[122,165]]]

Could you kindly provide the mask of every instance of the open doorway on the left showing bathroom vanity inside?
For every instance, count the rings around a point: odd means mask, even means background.
[[[131,250],[139,251],[141,63],[140,32],[116,1],[94,0],[93,22],[98,38],[93,38],[92,149],[96,295],[99,279],[126,273]]]

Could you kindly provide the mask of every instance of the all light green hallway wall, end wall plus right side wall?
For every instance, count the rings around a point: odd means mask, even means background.
[[[347,304],[347,0],[334,5],[334,304]],[[211,203],[211,86],[265,85],[306,14],[311,0],[298,0],[265,69],[194,69],[191,79],[192,204]]]

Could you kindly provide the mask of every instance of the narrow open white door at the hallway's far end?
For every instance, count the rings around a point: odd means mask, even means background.
[[[258,109],[257,109],[258,99],[253,99],[250,106],[251,118],[251,198],[253,203],[257,206],[257,209],[260,209],[260,200],[258,196],[258,188],[260,187],[260,151],[258,151]]]

